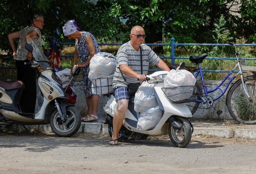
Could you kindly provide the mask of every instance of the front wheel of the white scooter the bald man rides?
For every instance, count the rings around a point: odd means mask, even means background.
[[[181,126],[181,129],[174,129],[172,125],[169,124],[169,137],[176,147],[186,147],[192,137],[191,125],[189,121],[183,117],[175,117],[175,120]]]

